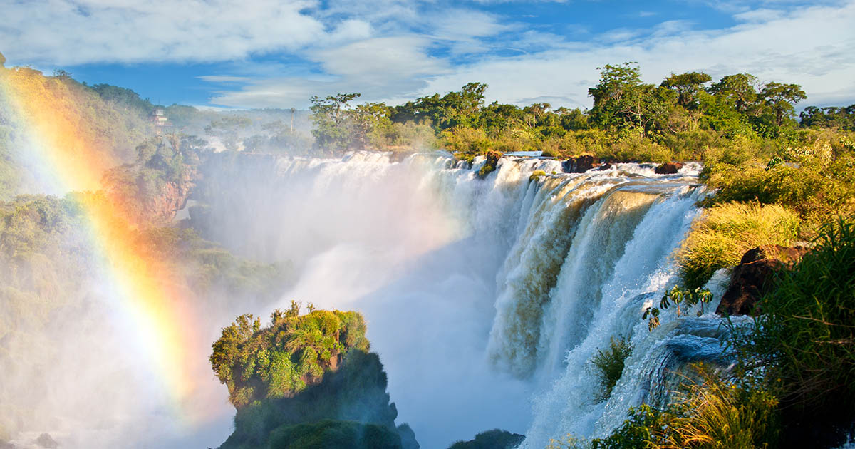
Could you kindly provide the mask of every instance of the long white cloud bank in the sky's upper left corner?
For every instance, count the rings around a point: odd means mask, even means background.
[[[45,0],[5,2],[0,42],[10,60],[87,62],[224,61],[297,50],[324,25],[310,0]]]

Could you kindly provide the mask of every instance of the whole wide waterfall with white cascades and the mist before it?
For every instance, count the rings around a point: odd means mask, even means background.
[[[670,255],[704,195],[697,164],[563,174],[503,157],[481,180],[483,158],[467,168],[444,153],[249,158],[206,168],[209,236],[291,261],[283,302],[363,311],[398,422],[423,447],[489,428],[528,428],[531,448],[607,434],[661,397],[669,369],[719,351],[713,316],[667,310],[653,332],[640,319],[674,281]],[[613,336],[634,352],[596,402],[589,361]]]

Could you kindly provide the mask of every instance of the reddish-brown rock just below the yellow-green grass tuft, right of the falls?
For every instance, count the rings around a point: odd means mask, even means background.
[[[797,245],[764,245],[742,256],[730,276],[728,290],[722,295],[716,312],[728,315],[753,315],[759,312],[758,301],[769,289],[772,278],[782,269],[798,263],[808,249]]]

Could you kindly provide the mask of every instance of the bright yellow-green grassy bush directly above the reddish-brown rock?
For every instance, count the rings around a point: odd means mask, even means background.
[[[704,210],[676,253],[684,287],[703,287],[717,269],[734,267],[760,245],[790,245],[799,216],[778,205],[726,203]]]

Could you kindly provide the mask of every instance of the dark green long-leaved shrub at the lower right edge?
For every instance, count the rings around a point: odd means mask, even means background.
[[[763,304],[751,334],[734,333],[742,369],[781,398],[787,440],[840,444],[855,421],[855,218],[824,226]]]

